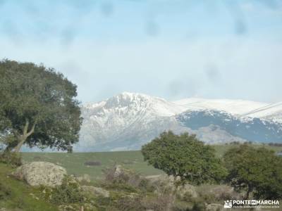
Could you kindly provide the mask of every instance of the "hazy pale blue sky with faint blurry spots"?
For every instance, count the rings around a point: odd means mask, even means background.
[[[83,103],[282,101],[282,1],[0,0],[0,14],[0,58],[56,68]]]

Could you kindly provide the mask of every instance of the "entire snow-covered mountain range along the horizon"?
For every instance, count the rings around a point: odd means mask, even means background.
[[[168,129],[195,133],[209,143],[282,141],[281,104],[276,104],[202,98],[170,102],[124,92],[82,106],[84,121],[75,150],[139,149]]]

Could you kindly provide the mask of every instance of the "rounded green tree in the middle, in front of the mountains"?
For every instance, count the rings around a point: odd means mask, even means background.
[[[204,145],[195,135],[164,132],[142,146],[150,165],[191,184],[220,182],[226,175],[214,148]]]

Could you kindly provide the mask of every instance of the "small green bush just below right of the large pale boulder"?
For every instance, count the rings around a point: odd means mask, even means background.
[[[54,204],[83,203],[84,196],[77,182],[65,177],[61,186],[49,191],[49,201]]]

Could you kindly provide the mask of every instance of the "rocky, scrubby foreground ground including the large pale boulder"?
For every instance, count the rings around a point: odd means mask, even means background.
[[[27,163],[6,172],[6,177],[25,184],[25,188],[32,190],[28,193],[29,198],[35,203],[50,205],[52,210],[212,211],[223,210],[226,199],[240,198],[240,194],[229,186],[185,184],[176,187],[173,177],[165,174],[142,177],[121,165],[104,170],[104,180],[98,184],[87,174],[68,175],[66,169],[50,162]],[[0,199],[5,200],[2,192]],[[24,206],[8,203],[0,203],[0,207],[2,210],[25,210]],[[40,210],[48,209],[41,207]]]

